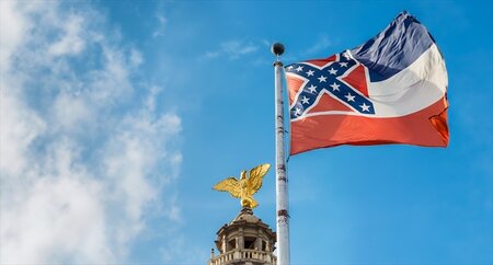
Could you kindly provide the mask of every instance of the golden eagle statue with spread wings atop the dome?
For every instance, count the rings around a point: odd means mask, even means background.
[[[213,188],[219,192],[228,192],[231,196],[240,198],[240,204],[244,208],[253,209],[259,203],[252,197],[261,187],[264,175],[267,174],[271,164],[265,163],[250,170],[246,178],[246,171],[241,172],[240,180],[231,176],[220,181]]]

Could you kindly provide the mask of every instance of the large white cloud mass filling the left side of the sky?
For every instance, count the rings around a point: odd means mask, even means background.
[[[0,263],[122,263],[177,176],[181,118],[135,93],[142,55],[90,7],[0,4]]]

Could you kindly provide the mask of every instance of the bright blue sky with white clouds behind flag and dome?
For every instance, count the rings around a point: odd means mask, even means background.
[[[403,10],[445,56],[450,145],[290,158],[291,263],[493,264],[493,2],[0,7],[2,264],[206,264],[240,210],[211,186],[275,162],[270,45],[328,57]]]

